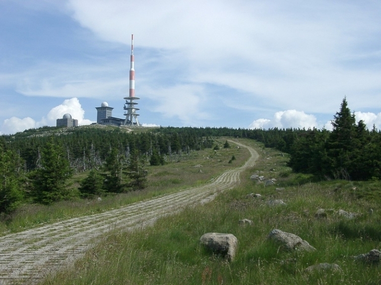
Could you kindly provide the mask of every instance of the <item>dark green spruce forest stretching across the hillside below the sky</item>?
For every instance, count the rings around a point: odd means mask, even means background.
[[[294,172],[314,180],[379,180],[381,133],[356,123],[346,98],[333,116],[332,131],[160,127],[128,133],[123,128],[43,127],[0,136],[0,213],[24,203],[50,204],[72,198],[145,187],[150,165],[185,159],[215,147],[214,138],[249,138],[290,155]],[[86,172],[78,191],[67,181]]]

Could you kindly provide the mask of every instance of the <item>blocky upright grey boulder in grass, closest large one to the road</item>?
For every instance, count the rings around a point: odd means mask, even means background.
[[[203,246],[232,261],[236,255],[238,239],[232,234],[207,233],[200,238]]]

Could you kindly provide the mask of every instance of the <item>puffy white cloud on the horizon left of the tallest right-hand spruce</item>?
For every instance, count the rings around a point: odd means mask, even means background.
[[[276,112],[272,120],[257,119],[250,124],[249,129],[271,129],[271,128],[317,128],[318,123],[314,115],[308,115],[303,111],[286,110]]]

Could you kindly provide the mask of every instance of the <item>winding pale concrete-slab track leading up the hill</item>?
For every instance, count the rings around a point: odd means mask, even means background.
[[[224,172],[208,185],[1,237],[0,284],[35,284],[79,258],[110,230],[144,227],[191,204],[209,202],[219,192],[233,188],[240,181],[240,173],[254,166],[258,158],[253,148],[235,143],[248,148],[251,157],[244,166]]]

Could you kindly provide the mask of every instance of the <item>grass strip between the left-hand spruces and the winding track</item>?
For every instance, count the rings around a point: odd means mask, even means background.
[[[217,151],[210,148],[191,151],[190,155],[181,157],[179,162],[164,166],[148,166],[146,168],[148,183],[144,190],[110,194],[102,197],[101,201],[98,201],[97,198],[78,198],[52,205],[24,205],[10,216],[0,219],[0,236],[46,223],[101,213],[133,202],[205,184],[225,170],[242,165],[248,158],[249,152],[246,149],[237,148],[234,144],[230,148],[223,148],[226,139],[216,139],[215,141],[220,146]],[[236,159],[229,163],[232,156],[235,156]],[[76,191],[79,182],[86,175],[87,173],[80,173],[72,178],[70,184],[73,191]]]

